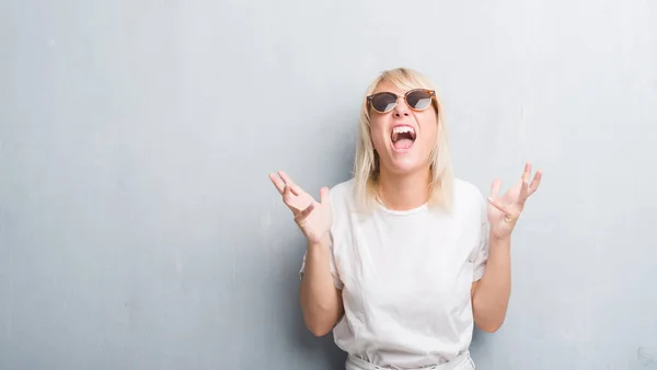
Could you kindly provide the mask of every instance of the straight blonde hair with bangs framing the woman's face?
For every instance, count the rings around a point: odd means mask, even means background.
[[[436,90],[431,82],[419,72],[408,68],[396,68],[381,72],[377,79],[369,85],[366,96],[373,93],[377,86],[387,81],[402,91],[411,89],[431,89]],[[451,155],[448,146],[447,129],[442,120],[440,103],[436,99],[436,144],[433,148],[430,157],[429,181],[430,196],[429,206],[441,207],[449,210],[453,195],[453,170]],[[358,208],[361,211],[370,211],[377,199],[377,184],[379,180],[379,154],[374,151],[370,136],[370,114],[367,100],[362,100],[360,108],[360,124],[358,130],[358,143],[356,148],[356,158],[354,160],[354,180],[355,197]]]

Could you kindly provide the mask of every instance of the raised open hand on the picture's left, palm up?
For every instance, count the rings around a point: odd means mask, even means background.
[[[295,222],[308,242],[319,244],[327,240],[332,222],[328,188],[322,187],[321,199],[318,203],[310,194],[295,184],[285,172],[278,171],[278,174],[269,174],[269,178],[283,196],[283,201],[292,211]]]

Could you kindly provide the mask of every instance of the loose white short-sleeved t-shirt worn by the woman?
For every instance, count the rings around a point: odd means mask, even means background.
[[[331,270],[345,314],[336,345],[366,361],[397,369],[452,360],[468,351],[474,321],[470,290],[488,255],[486,201],[454,181],[451,211],[407,211],[378,204],[355,211],[354,180],[331,189]],[[306,257],[301,273],[306,266]]]

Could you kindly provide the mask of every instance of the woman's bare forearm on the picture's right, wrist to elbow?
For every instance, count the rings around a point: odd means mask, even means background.
[[[476,284],[472,305],[474,322],[485,332],[497,331],[506,316],[511,293],[511,242],[491,235],[486,271]]]

